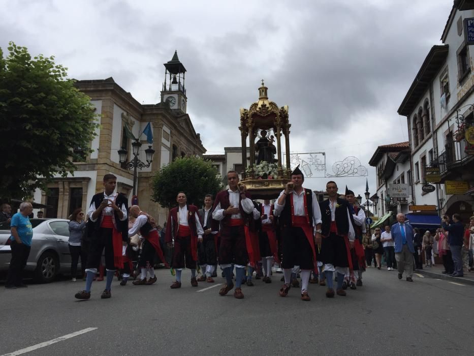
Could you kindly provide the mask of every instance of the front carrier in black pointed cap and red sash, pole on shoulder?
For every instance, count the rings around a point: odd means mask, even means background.
[[[316,268],[315,235],[321,238],[321,211],[318,199],[310,189],[303,188],[303,172],[296,167],[291,173],[291,182],[280,193],[275,202],[275,215],[282,229],[283,276],[285,284],[279,291],[287,296],[290,290],[291,272],[295,265],[301,269],[301,300],[310,301],[308,282],[311,271]]]

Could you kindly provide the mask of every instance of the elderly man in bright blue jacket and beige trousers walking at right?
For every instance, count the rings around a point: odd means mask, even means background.
[[[405,223],[405,214],[397,214],[397,222],[392,225],[392,239],[395,243],[395,259],[397,260],[398,279],[402,279],[403,272],[406,280],[413,282],[413,227]]]

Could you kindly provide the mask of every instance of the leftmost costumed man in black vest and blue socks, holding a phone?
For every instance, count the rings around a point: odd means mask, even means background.
[[[129,241],[128,234],[128,201],[125,196],[114,192],[117,177],[104,175],[104,192],[92,197],[87,215],[92,222],[93,233],[90,251],[86,263],[85,289],[75,294],[77,299],[89,299],[92,281],[105,250],[105,267],[107,269],[106,287],[101,298],[111,297],[110,288],[117,269],[123,267],[122,246]]]

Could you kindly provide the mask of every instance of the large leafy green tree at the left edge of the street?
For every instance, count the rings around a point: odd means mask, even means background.
[[[0,48],[0,197],[22,198],[44,188],[55,174],[73,173],[92,150],[94,106],[67,68],[10,42]]]

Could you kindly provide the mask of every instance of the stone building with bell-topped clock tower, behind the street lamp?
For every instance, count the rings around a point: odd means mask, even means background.
[[[86,210],[92,195],[103,190],[102,181],[107,173],[117,176],[117,191],[125,194],[130,203],[133,170],[119,162],[117,151],[121,148],[127,150],[129,162],[134,156],[132,139],[126,134],[125,125],[138,137],[145,126],[151,123],[155,153],[150,167],[138,170],[136,195],[144,211],[157,218],[159,224],[166,221],[167,210],[150,200],[152,176],[176,157],[202,156],[206,149],[186,113],[186,69],[176,52],[164,66],[161,101],[156,104],[140,104],[112,77],[76,81],[76,88],[87,94],[96,107],[101,128],[97,129],[97,136],[90,142],[93,152],[83,162],[75,163],[74,175],[57,176],[48,185],[48,192],[35,192],[35,202],[50,206],[45,211],[46,217],[67,218],[76,207]],[[145,135],[140,137],[140,142],[139,158],[146,162],[144,150],[148,143]],[[81,147],[77,147],[77,150],[81,150]]]

